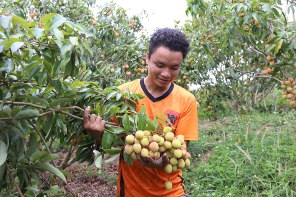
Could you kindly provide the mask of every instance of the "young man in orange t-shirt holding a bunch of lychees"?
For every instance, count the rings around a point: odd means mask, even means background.
[[[189,42],[184,33],[174,28],[158,29],[151,36],[146,54],[148,75],[119,86],[122,91],[128,86],[132,93],[144,95],[137,110],[144,104],[151,119],[155,115],[161,117],[159,112],[165,114],[175,127],[175,135],[184,135],[187,147],[190,140],[198,140],[196,100],[193,94],[173,81],[179,74],[188,49]],[[90,107],[87,107],[84,112],[84,128],[101,143],[105,120],[95,114],[89,118],[89,111]],[[168,174],[164,170],[167,163],[169,158],[165,153],[156,160],[150,156],[143,160],[138,154],[133,165],[125,163],[123,156],[120,156],[116,196],[189,196],[184,187],[182,171],[178,169]],[[173,183],[171,190],[166,190],[164,186],[168,176]]]

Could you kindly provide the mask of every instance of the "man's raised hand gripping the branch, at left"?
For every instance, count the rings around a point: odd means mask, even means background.
[[[90,135],[101,144],[106,121],[96,114],[90,115],[90,106],[86,107],[83,114],[83,127]]]

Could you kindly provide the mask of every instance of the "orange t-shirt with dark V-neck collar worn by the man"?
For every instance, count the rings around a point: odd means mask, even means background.
[[[165,94],[154,98],[146,89],[143,79],[124,83],[119,88],[126,91],[127,86],[131,93],[140,93],[145,96],[139,101],[137,111],[144,104],[147,116],[151,119],[153,119],[153,115],[162,117],[158,113],[160,111],[170,119],[172,126],[176,128],[173,130],[175,135],[183,134],[185,140],[198,140],[197,105],[192,93],[172,83]],[[163,121],[166,122],[164,118]],[[164,169],[142,166],[138,160],[134,160],[133,165],[128,165],[121,155],[118,171],[117,197],[177,197],[187,193],[180,169],[168,174]],[[164,186],[168,176],[173,183],[171,190],[166,190]]]

